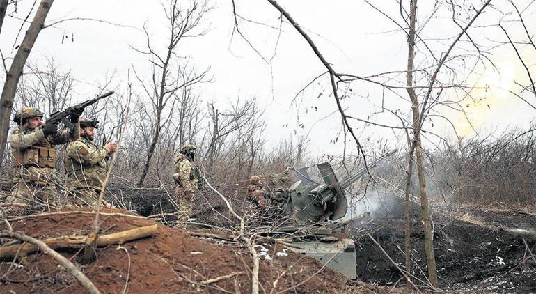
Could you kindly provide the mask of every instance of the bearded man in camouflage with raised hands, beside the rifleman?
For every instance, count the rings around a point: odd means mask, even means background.
[[[68,201],[77,206],[95,206],[107,174],[107,159],[114,153],[114,142],[98,147],[95,132],[99,121],[80,119],[80,138],[65,149]]]

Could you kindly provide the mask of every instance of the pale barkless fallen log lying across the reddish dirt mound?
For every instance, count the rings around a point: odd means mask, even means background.
[[[158,230],[158,225],[153,224],[152,226],[142,226],[141,228],[131,229],[127,231],[121,231],[118,233],[111,233],[107,235],[100,235],[97,238],[97,247],[103,247],[108,245],[123,244],[124,242],[138,240],[141,238],[148,237]],[[69,235],[61,236],[56,238],[50,238],[42,240],[52,249],[59,248],[82,248],[86,245],[88,236],[81,235]],[[17,244],[9,245],[5,247],[0,247],[0,259],[13,257],[17,254],[19,256],[25,256],[31,252],[36,252],[38,247],[32,244]]]

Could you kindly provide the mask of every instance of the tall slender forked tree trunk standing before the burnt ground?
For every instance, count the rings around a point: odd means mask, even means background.
[[[417,157],[417,176],[419,178],[419,188],[420,188],[420,208],[421,216],[423,217],[423,226],[425,231],[425,253],[426,253],[426,263],[428,268],[428,279],[432,286],[439,287],[439,282],[437,279],[437,268],[436,268],[436,258],[434,256],[434,235],[432,233],[432,224],[430,221],[430,212],[428,208],[428,198],[426,193],[426,182],[425,182],[425,173],[423,166],[423,147],[420,142],[420,115],[419,115],[419,102],[415,89],[413,88],[413,61],[415,59],[415,23],[417,20],[417,0],[411,0],[410,8],[410,24],[409,24],[409,38],[408,38],[408,65],[407,65],[407,92],[409,98],[411,98],[411,110],[413,111],[413,144],[416,148],[416,157]],[[410,150],[409,154],[409,175],[406,185],[409,184],[411,178],[411,170],[413,165],[413,148]],[[409,270],[409,187],[406,187],[406,265]]]

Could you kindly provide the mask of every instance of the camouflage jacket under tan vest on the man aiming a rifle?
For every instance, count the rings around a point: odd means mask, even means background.
[[[65,128],[45,137],[42,127],[33,130],[17,128],[10,132],[8,141],[13,155],[16,182],[46,183],[55,176],[56,150],[54,145],[65,144],[80,137],[80,125]]]

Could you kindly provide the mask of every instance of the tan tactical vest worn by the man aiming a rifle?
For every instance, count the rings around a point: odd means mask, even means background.
[[[40,144],[22,150],[12,148],[12,154],[14,157],[13,167],[56,168],[56,150],[46,139]]]

